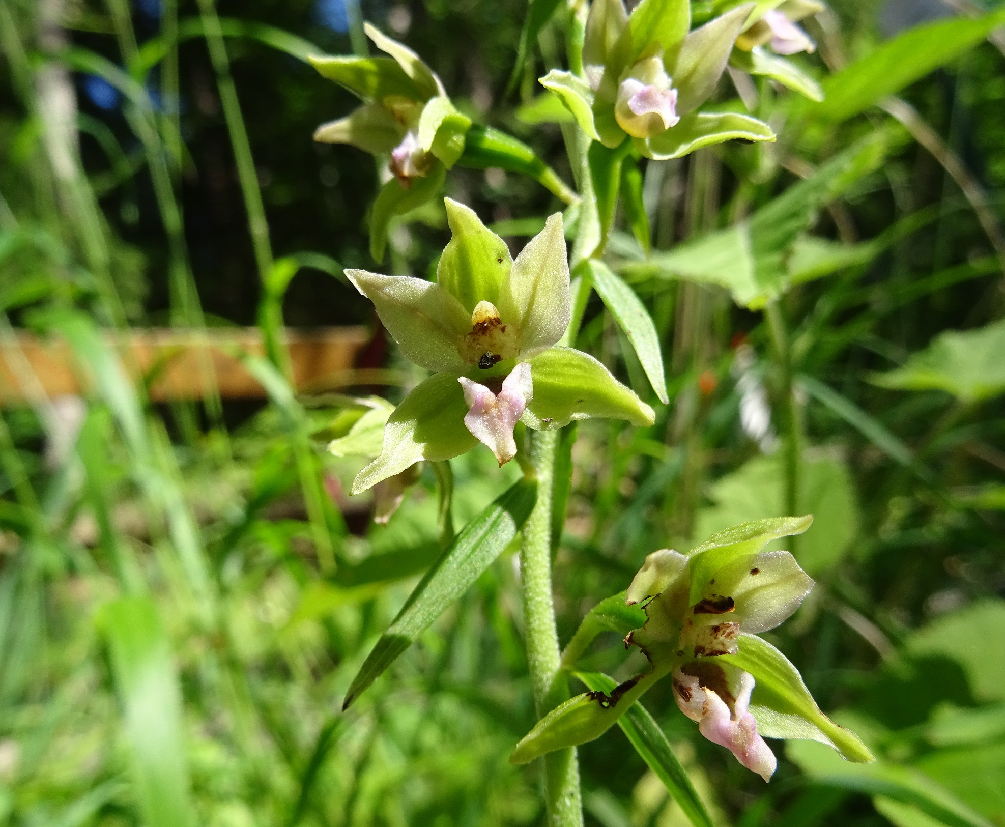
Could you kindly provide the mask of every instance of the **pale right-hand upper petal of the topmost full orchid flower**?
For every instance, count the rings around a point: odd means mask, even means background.
[[[730,59],[737,35],[753,8],[753,3],[746,3],[728,11],[694,29],[684,39],[673,68],[667,68],[673,85],[679,90],[677,115],[685,115],[700,107],[715,91],[719,78],[726,70],[726,61]]]

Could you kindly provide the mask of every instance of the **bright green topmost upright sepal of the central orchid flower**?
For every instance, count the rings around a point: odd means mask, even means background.
[[[467,311],[464,333],[469,333],[470,314],[475,304],[491,301],[498,306],[499,292],[513,259],[506,241],[487,229],[474,210],[450,198],[444,198],[443,203],[453,235],[436,266],[436,282]]]

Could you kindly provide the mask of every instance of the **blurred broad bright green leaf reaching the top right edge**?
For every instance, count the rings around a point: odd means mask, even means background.
[[[1001,25],[1005,9],[908,29],[828,77],[823,102],[801,111],[830,122],[846,121],[976,46]]]

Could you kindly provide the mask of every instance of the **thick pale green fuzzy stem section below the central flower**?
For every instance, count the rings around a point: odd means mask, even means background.
[[[539,718],[569,697],[569,684],[561,671],[552,600],[552,502],[558,443],[556,431],[530,434],[531,465],[537,476],[538,499],[524,527],[520,551],[527,660]],[[549,827],[580,827],[583,806],[575,749],[550,753],[544,757],[544,762],[547,824]]]

